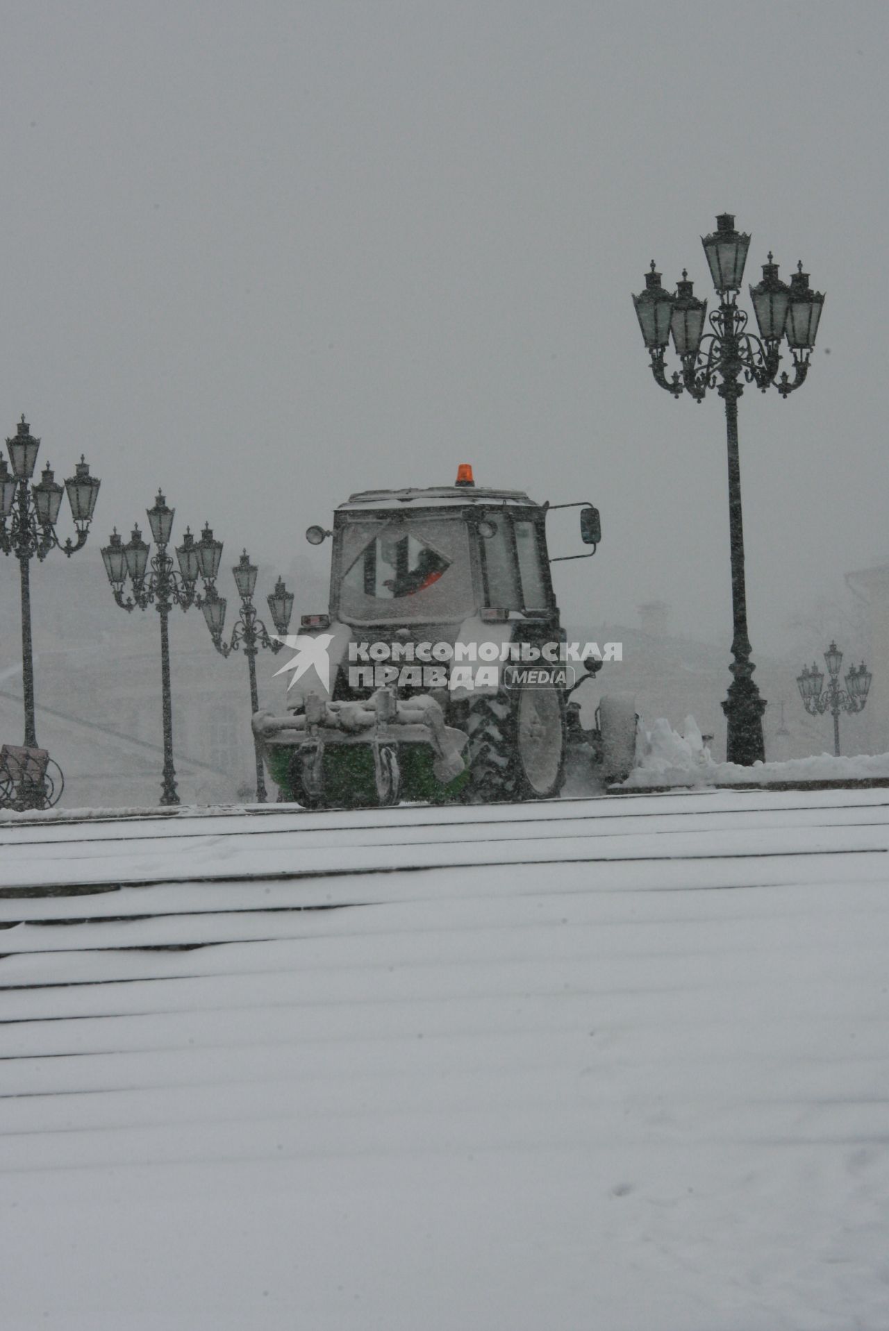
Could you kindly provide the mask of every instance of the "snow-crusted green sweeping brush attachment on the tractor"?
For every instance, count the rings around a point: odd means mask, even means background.
[[[329,803],[331,779],[334,785],[347,781],[353,803],[357,787],[363,787],[361,803],[398,804],[403,767],[409,784],[421,787],[409,797],[423,799],[430,755],[431,779],[442,791],[451,792],[466,773],[467,735],[444,724],[441,705],[429,693],[399,699],[393,688],[379,688],[361,701],[309,693],[302,712],[257,712],[253,732],[278,784],[311,808]]]

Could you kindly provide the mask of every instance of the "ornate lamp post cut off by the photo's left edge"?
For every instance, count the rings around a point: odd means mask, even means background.
[[[55,479],[52,467],[47,465],[37,484],[31,484],[40,439],[31,434],[31,426],[24,415],[12,439],[7,439],[9,463],[0,458],[0,548],[4,555],[15,555],[19,560],[21,583],[21,680],[25,711],[25,748],[37,747],[35,724],[35,679],[33,647],[31,640],[31,560],[36,556],[44,560],[51,550],[61,550],[71,558],[83,550],[89,535],[98,498],[100,480],[90,476],[89,465],[84,461],[75,467],[73,476],[65,480],[71,515],[75,519],[77,539],[71,536],[64,542],[56,532],[59,510],[61,508],[63,487]]]

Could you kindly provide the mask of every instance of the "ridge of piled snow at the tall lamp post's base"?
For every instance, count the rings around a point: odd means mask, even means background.
[[[663,785],[769,785],[776,781],[889,781],[889,753],[832,757],[821,753],[795,757],[787,763],[716,763],[704,745],[693,716],[687,716],[684,735],[660,717],[645,731],[640,723],[636,739],[636,767],[623,789]]]

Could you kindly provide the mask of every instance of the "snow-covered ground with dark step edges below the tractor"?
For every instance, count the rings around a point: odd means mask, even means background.
[[[885,791],[5,821],[3,1331],[884,1331],[888,853]]]

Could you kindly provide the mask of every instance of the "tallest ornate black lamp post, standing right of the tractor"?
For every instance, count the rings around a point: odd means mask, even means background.
[[[728,442],[728,520],[732,559],[732,683],[723,711],[728,724],[727,757],[729,763],[749,767],[765,757],[763,712],[765,701],[753,681],[756,667],[747,628],[747,592],[744,586],[744,527],[741,523],[741,471],[737,446],[737,399],[744,382],[755,383],[763,393],[772,385],[783,398],[804,382],[824,306],[824,295],[809,287],[802,264],[788,286],[779,276],[777,264],[768,257],[763,278],[751,286],[753,311],[760,337],[747,331],[747,314],[737,307],[744,264],[751,237],[735,230],[735,217],[721,213],[716,230],[701,237],[704,253],[719,295],[719,309],[709,315],[711,333],[704,334],[707,301],[700,301],[683,272],[676,291],[660,285],[660,273],[645,274],[645,289],[633,295],[641,335],[651,355],[655,382],[680,398],[689,393],[701,402],[709,389],[716,389],[725,402]],[[667,378],[664,353],[672,335],[681,362],[681,374]],[[787,338],[793,357],[795,375],[779,378],[781,341]]]

